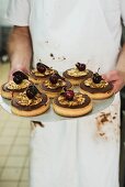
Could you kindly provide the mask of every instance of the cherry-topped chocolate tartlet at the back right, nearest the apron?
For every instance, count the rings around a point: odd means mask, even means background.
[[[92,76],[92,72],[86,68],[86,64],[77,63],[75,68],[67,69],[63,76],[72,85],[79,85],[82,80]]]

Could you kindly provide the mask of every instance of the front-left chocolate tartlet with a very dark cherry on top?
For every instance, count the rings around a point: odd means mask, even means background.
[[[11,111],[22,117],[34,117],[44,113],[49,108],[49,99],[45,94],[30,86],[11,101]]]

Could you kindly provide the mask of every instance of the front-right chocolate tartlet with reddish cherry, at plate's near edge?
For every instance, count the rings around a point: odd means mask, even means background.
[[[67,90],[54,98],[53,108],[63,117],[81,117],[92,110],[92,101],[88,95]]]

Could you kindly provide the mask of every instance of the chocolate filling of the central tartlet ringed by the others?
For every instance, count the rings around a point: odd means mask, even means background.
[[[69,88],[71,88],[71,87],[72,87],[72,85],[70,84],[70,81],[67,81],[67,80],[66,80],[66,89],[69,89]],[[45,86],[45,84],[43,82],[43,84],[42,84],[42,89],[45,90],[45,91],[50,91],[50,92],[60,92],[60,91],[63,90],[63,87],[57,87],[57,88],[55,88],[55,89],[50,89],[50,88],[47,88],[47,87]]]

